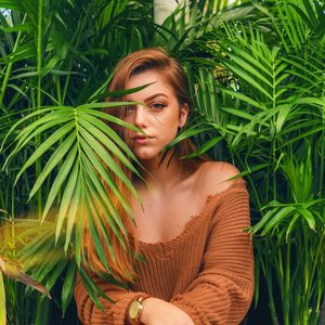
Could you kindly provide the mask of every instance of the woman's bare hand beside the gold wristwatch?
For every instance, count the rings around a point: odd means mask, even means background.
[[[194,325],[191,317],[172,303],[158,298],[147,298],[142,302],[140,317],[145,325]]]

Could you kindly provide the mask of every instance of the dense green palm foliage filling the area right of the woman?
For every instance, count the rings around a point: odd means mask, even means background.
[[[218,68],[200,70],[197,107],[213,135],[198,153],[211,148],[247,176],[256,300],[263,272],[273,324],[317,324],[325,289],[324,3],[275,4],[255,5],[265,18],[212,31],[219,41],[207,48]]]

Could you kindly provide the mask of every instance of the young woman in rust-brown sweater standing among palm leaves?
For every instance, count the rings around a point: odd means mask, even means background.
[[[83,324],[115,325],[239,324],[253,291],[252,247],[243,232],[249,225],[245,181],[230,181],[238,174],[230,164],[181,159],[194,150],[188,140],[162,159],[161,150],[188,118],[186,78],[165,51],[146,49],[119,63],[109,90],[143,84],[148,86],[123,98],[139,104],[114,113],[141,130],[119,133],[144,167],[142,179],[129,176],[142,204],[121,188],[136,223],[127,226],[129,246],[123,249],[114,242],[116,261],[107,252],[113,275],[129,288],[94,277],[115,301],[102,299],[102,312],[78,281],[79,318]],[[130,218],[120,212],[128,224]],[[104,272],[93,244],[86,245],[93,269]],[[143,259],[134,258],[138,251]]]

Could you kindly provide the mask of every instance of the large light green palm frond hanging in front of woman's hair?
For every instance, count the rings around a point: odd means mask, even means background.
[[[133,153],[122,140],[103,122],[102,118],[105,118],[109,122],[118,122],[123,127],[131,126],[112,115],[101,113],[98,109],[125,104],[125,102],[91,103],[76,108],[56,106],[51,107],[51,109],[50,107],[46,107],[38,112],[38,114],[31,113],[11,128],[10,133],[14,133],[17,128],[21,128],[22,125],[32,119],[32,122],[26,126],[26,128],[15,136],[15,148],[6,160],[6,164],[9,164],[32,139],[43,136],[44,133],[55,128],[54,132],[46,139],[27,159],[16,176],[16,182],[38,159],[48,156],[47,164],[39,173],[29,193],[29,199],[40,191],[49,178],[52,179],[52,186],[47,197],[42,220],[46,219],[51,207],[53,207],[55,199],[60,198],[55,242],[57,243],[64,231],[64,249],[67,251],[70,240],[76,240],[77,259],[80,258],[81,224],[80,220],[78,220],[77,223],[76,220],[80,217],[80,205],[82,202],[82,212],[86,213],[84,217],[90,226],[95,249],[107,270],[108,265],[103,253],[104,248],[101,244],[101,236],[103,236],[106,242],[105,245],[109,247],[110,250],[112,243],[104,223],[101,221],[101,217],[93,213],[93,211],[99,209],[105,214],[105,222],[112,227],[120,243],[125,245],[125,239],[122,238],[122,236],[126,236],[123,223],[117,213],[116,207],[110,202],[103,182],[117,195],[122,207],[129,212],[130,218],[132,218],[129,204],[120,194],[109,172],[120,178],[135,197],[138,197],[138,194],[112,155],[119,159],[121,164],[133,173],[138,173],[138,171],[129,160],[129,157],[131,157],[136,162]],[[35,118],[37,119],[35,120]],[[131,128],[138,130],[134,127]],[[126,154],[129,156],[128,158]],[[60,197],[58,195],[62,196]],[[83,217],[81,217],[81,219]],[[94,222],[94,219],[98,221]],[[101,236],[94,226],[95,223],[100,225]],[[76,232],[74,232],[74,230],[76,230]],[[114,256],[113,251],[112,255]],[[55,274],[61,272],[63,265],[57,265],[57,268]],[[49,283],[52,284],[54,280],[55,277]]]

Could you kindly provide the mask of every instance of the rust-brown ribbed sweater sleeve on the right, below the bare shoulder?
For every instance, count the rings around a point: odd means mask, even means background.
[[[239,324],[253,294],[253,259],[245,185],[227,193],[216,207],[202,271],[170,302],[197,324]]]

